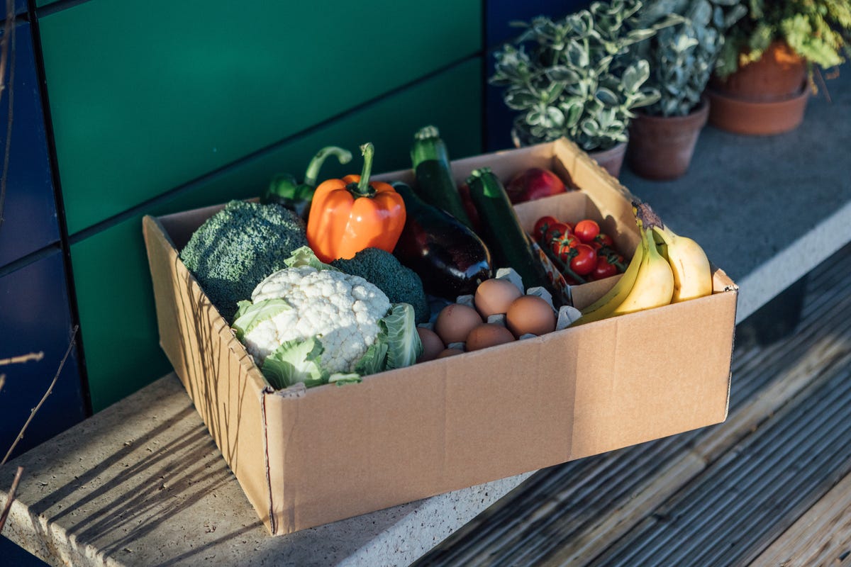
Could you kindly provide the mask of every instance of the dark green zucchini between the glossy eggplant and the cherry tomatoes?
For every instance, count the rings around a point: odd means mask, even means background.
[[[557,298],[500,179],[490,167],[480,167],[471,173],[467,185],[482,220],[480,235],[494,256],[494,268],[513,268],[523,278],[523,286],[542,286]]]

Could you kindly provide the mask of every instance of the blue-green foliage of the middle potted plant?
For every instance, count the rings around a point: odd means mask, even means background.
[[[724,34],[745,15],[740,0],[649,0],[637,26],[656,35],[635,46],[648,60],[648,86],[660,99],[644,111],[654,116],[686,116],[700,105],[706,83],[724,45]]]

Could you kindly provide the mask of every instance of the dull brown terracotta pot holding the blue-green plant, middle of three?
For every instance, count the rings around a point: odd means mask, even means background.
[[[630,169],[645,179],[681,177],[688,171],[709,108],[709,101],[703,99],[686,116],[638,114],[630,124],[630,143],[626,148]]]

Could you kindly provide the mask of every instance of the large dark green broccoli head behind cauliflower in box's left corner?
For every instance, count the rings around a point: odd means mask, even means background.
[[[180,259],[229,322],[237,302],[307,246],[304,222],[275,203],[231,201],[192,233]]]

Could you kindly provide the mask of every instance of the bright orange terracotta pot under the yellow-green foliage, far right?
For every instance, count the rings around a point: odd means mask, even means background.
[[[789,132],[801,125],[808,94],[806,64],[788,45],[775,42],[762,59],[726,80],[712,78],[706,89],[709,123],[746,135]]]

